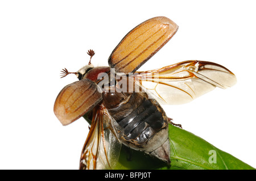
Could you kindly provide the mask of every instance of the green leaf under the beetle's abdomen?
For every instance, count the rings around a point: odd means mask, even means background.
[[[171,165],[122,146],[115,169],[254,169],[184,129],[169,125]]]

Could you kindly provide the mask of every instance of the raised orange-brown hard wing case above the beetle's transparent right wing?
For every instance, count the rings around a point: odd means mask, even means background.
[[[146,20],[123,37],[110,54],[109,66],[117,73],[133,73],[158,52],[177,29],[177,24],[163,16]]]

